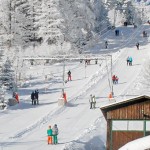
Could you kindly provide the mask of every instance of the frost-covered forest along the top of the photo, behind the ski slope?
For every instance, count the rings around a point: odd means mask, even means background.
[[[101,31],[113,25],[108,13],[121,14],[124,20],[135,18],[134,6],[117,0],[1,0],[0,45],[5,52],[17,47],[38,49],[46,45],[48,51],[84,51],[96,42]],[[125,6],[128,9],[121,9]],[[121,12],[118,13],[117,12]],[[114,16],[115,17],[115,16]],[[117,20],[116,20],[117,21]],[[109,29],[109,28],[108,28]],[[87,46],[88,45],[88,46]],[[36,51],[38,52],[38,51]],[[50,52],[50,54],[51,54]]]

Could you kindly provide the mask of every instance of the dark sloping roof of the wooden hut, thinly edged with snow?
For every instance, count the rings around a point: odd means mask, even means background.
[[[121,102],[116,102],[113,104],[102,106],[100,109],[102,110],[104,116],[106,117],[106,113],[108,111],[115,110],[115,109],[118,109],[121,107],[127,107],[129,105],[133,105],[133,104],[137,104],[137,103],[141,103],[141,102],[149,101],[149,100],[150,100],[150,96],[141,95],[141,96],[133,97],[130,99],[126,99],[126,100],[121,101]]]

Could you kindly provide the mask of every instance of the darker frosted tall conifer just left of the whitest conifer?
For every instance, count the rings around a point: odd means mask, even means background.
[[[17,44],[23,48],[32,45],[34,38],[33,11],[28,0],[16,0],[14,36]]]

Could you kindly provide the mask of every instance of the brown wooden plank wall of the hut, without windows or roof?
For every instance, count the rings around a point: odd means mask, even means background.
[[[143,137],[143,132],[126,132],[126,131],[113,131],[111,132],[111,121],[112,120],[150,120],[150,118],[145,118],[143,114],[150,116],[150,101],[143,101],[140,103],[127,104],[123,107],[110,109],[107,112],[107,146],[106,150],[118,150],[126,143]],[[127,138],[128,137],[128,138]],[[112,138],[112,143],[111,139]],[[112,144],[112,145],[111,145]]]

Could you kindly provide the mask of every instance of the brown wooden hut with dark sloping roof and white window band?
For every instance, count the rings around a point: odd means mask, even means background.
[[[150,135],[150,97],[138,96],[100,108],[107,121],[106,150]]]

